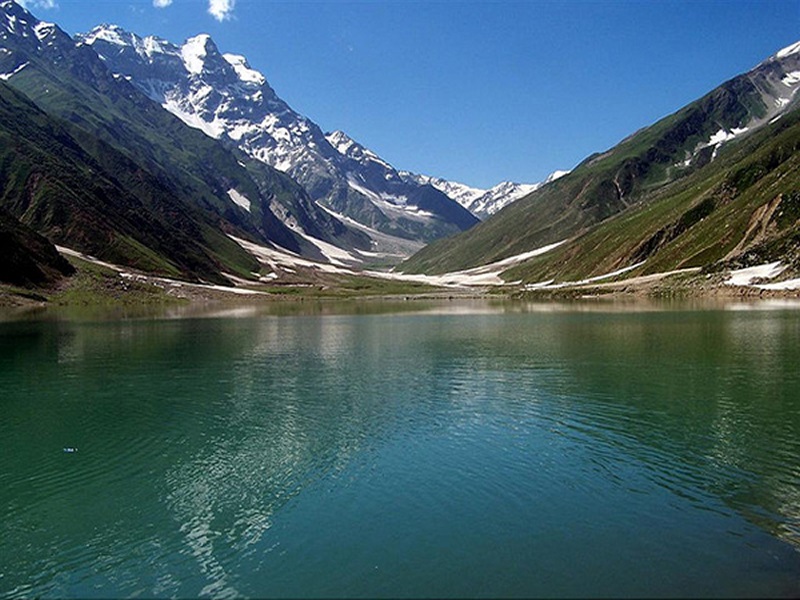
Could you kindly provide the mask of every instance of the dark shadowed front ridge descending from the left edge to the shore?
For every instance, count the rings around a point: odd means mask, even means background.
[[[125,155],[85,132],[72,135],[11,88],[0,85],[0,202],[52,241],[166,275],[222,281],[222,261],[200,240],[225,236],[197,209]],[[88,148],[88,151],[87,151]],[[225,238],[227,240],[227,238]],[[232,241],[219,244],[218,252]],[[229,261],[255,261],[239,249]],[[234,260],[236,263],[234,263]],[[248,271],[249,272],[249,271]]]

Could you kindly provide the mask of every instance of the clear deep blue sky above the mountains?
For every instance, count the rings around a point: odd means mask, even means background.
[[[324,130],[481,187],[572,168],[800,40],[800,0],[230,1],[25,3],[69,33],[210,33]]]

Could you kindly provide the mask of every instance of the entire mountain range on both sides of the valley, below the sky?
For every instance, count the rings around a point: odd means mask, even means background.
[[[571,172],[484,190],[323,133],[207,35],[178,46],[103,25],[73,39],[0,0],[0,279],[69,273],[52,244],[214,283],[258,281],[257,247],[358,269],[428,244],[400,270],[504,261],[534,286],[758,261],[800,272],[798,88],[800,43]]]

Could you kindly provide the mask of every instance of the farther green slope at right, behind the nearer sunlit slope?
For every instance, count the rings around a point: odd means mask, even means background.
[[[719,128],[741,127],[765,107],[750,76],[587,158],[569,175],[514,202],[473,229],[435,242],[403,263],[406,272],[443,273],[490,263],[579,234],[652,199],[660,187],[702,171],[711,148],[676,167]]]

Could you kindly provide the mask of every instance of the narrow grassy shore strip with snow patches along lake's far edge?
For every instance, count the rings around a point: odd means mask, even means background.
[[[800,288],[775,289],[766,279],[736,280],[730,273],[698,268],[608,281],[607,276],[561,284],[434,285],[407,277],[327,274],[314,269],[286,281],[250,282],[234,278],[230,286],[170,279],[116,265],[69,256],[77,273],[56,284],[23,288],[0,283],[0,307],[20,309],[148,309],[292,305],[309,302],[510,300],[800,300]],[[614,275],[614,274],[612,274]],[[622,276],[620,272],[618,276]]]

